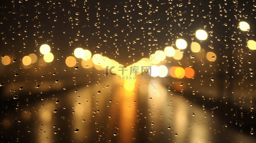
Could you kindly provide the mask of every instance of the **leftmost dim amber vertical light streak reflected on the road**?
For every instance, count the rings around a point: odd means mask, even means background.
[[[53,114],[55,104],[46,103],[38,110],[39,113],[39,127],[40,130],[37,143],[52,143],[53,142]]]

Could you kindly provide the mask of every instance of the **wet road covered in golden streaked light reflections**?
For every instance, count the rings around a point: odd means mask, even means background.
[[[40,102],[31,102],[26,111],[20,111],[22,122],[36,118],[33,126],[20,127],[26,128],[22,134],[34,134],[37,143],[240,143],[255,139],[224,124],[220,116],[184,96],[186,91],[170,90],[161,78],[140,80],[138,76],[131,82],[134,88],[124,83],[112,76],[65,92],[48,92]],[[13,129],[7,119],[3,123]]]

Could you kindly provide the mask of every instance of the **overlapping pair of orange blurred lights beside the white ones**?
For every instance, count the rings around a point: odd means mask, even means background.
[[[170,68],[170,75],[178,79],[182,79],[184,77],[191,79],[195,77],[196,72],[190,67],[183,69],[182,67],[174,66]]]

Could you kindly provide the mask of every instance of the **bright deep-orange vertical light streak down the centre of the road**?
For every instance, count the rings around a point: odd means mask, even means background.
[[[136,88],[124,87],[125,80],[117,80],[118,86],[113,89],[114,96],[111,103],[111,118],[109,119],[109,133],[107,140],[118,143],[134,143],[136,138],[137,114],[136,99],[138,96]],[[137,87],[138,83],[133,82],[132,87]]]

